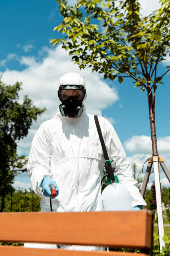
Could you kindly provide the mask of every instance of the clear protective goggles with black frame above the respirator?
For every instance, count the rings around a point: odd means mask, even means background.
[[[63,85],[59,87],[58,96],[61,101],[67,100],[70,96],[77,101],[82,101],[85,96],[85,88],[79,85]]]

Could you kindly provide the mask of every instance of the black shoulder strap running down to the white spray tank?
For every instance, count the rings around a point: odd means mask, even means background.
[[[97,128],[97,131],[98,131],[98,134],[99,134],[99,139],[100,139],[100,143],[102,145],[102,150],[103,150],[103,154],[104,154],[104,158],[105,158],[105,169],[106,169],[106,172],[110,175],[111,180],[114,181],[115,178],[114,178],[113,170],[112,170],[112,167],[111,167],[111,160],[109,160],[109,157],[108,157],[108,152],[107,152],[107,149],[106,149],[106,146],[105,146],[105,142],[103,140],[102,131],[101,131],[101,128],[100,128],[98,116],[94,116],[94,121],[96,123],[96,128]]]

